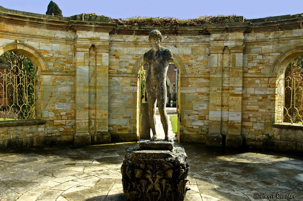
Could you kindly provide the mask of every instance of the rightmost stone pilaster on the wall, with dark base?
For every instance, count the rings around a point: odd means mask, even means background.
[[[243,33],[239,33],[238,35],[243,37]],[[241,122],[244,44],[242,41],[237,41],[229,49],[231,53],[231,68],[229,71],[228,135],[226,136],[226,147],[241,147],[243,141]]]

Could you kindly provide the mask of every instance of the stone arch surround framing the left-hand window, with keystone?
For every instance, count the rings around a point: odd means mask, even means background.
[[[0,47],[0,55],[8,51],[21,53],[32,63],[33,69],[35,70],[35,118],[41,118],[43,116],[44,106],[42,99],[43,86],[41,85],[41,79],[39,76],[42,71],[48,71],[47,63],[39,50],[28,44],[22,43],[22,41],[16,40],[13,43],[5,44]]]

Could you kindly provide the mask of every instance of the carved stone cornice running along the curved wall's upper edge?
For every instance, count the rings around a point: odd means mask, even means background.
[[[38,17],[37,17],[38,16]],[[123,26],[106,22],[75,21],[70,17],[48,18],[46,15],[25,16],[0,12],[0,23],[61,31],[94,31],[122,35],[148,35],[158,29],[163,35],[209,35],[231,32],[270,32],[303,28],[303,18],[296,16],[270,22],[237,22],[228,24],[204,24],[196,27],[145,27]]]

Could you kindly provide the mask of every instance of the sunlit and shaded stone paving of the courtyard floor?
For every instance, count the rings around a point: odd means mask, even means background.
[[[191,166],[186,201],[268,200],[254,199],[255,193],[303,200],[302,157],[175,144],[185,148]],[[120,167],[131,146],[138,143],[2,151],[0,200],[127,200]]]

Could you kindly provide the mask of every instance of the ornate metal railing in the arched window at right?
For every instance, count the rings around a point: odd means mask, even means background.
[[[284,80],[284,122],[301,123],[303,125],[303,78],[287,76]]]

